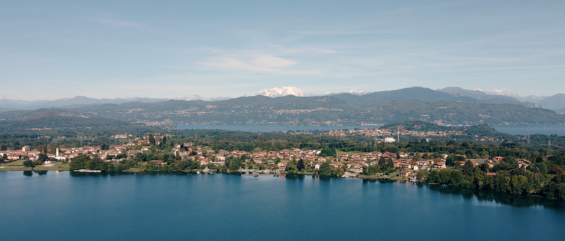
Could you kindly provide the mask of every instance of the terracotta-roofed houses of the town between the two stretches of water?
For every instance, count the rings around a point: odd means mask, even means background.
[[[404,135],[413,136],[438,135],[448,136],[454,132],[419,132],[404,131]],[[359,129],[348,131],[327,131],[327,136],[390,136],[392,133],[380,129]],[[197,173],[227,172],[255,172],[264,174],[285,174],[289,172],[289,163],[296,165],[301,162],[302,168],[294,173],[317,175],[324,163],[329,163],[331,168],[341,170],[341,177],[364,178],[389,178],[393,180],[409,180],[417,182],[419,171],[443,170],[446,168],[460,168],[466,163],[473,167],[486,165],[492,168],[503,161],[503,156],[489,156],[487,153],[473,154],[438,154],[437,152],[340,152],[334,149],[301,149],[290,148],[280,150],[262,150],[259,152],[246,152],[238,149],[210,149],[209,146],[193,145],[193,143],[166,143],[171,135],[154,133],[143,138],[132,138],[131,135],[119,134],[113,136],[120,140],[119,145],[101,145],[83,147],[59,147],[47,145],[40,149],[31,149],[24,146],[17,150],[0,151],[3,165],[0,170],[71,170],[70,163],[78,156],[96,159],[108,165],[117,166],[129,163],[126,172],[143,170],[161,170],[164,166],[174,165],[176,162],[189,161],[195,163],[185,171]],[[392,139],[392,140],[391,140]],[[394,138],[385,138],[379,143],[393,143]],[[235,168],[230,165],[230,160],[239,160],[241,163]],[[233,161],[231,161],[233,162]],[[517,160],[519,168],[526,168],[531,161]],[[380,168],[379,172],[369,171],[371,167],[388,166]],[[148,168],[151,167],[151,168]],[[86,169],[81,169],[86,171]],[[169,169],[165,169],[169,170]],[[370,173],[371,175],[367,175]],[[496,173],[487,173],[496,176]],[[421,179],[421,178],[420,178]]]

